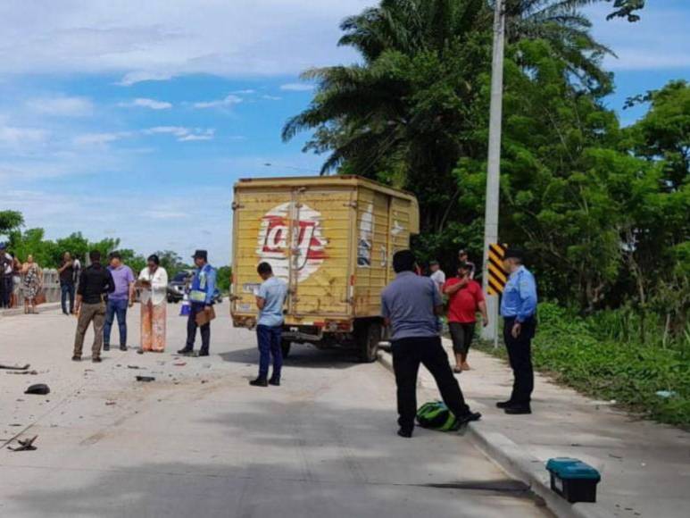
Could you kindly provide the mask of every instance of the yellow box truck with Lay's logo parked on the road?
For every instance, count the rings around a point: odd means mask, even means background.
[[[288,285],[283,351],[293,342],[356,347],[376,359],[381,290],[392,257],[419,232],[417,199],[356,176],[239,180],[233,208],[230,312],[254,328],[259,263]]]

